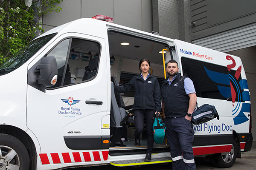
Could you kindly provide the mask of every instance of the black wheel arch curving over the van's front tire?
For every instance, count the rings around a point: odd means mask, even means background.
[[[0,133],[8,134],[14,136],[22,142],[28,153],[30,159],[29,170],[35,170],[37,164],[37,153],[33,140],[31,137],[24,131],[18,127],[12,125],[0,125]]]

